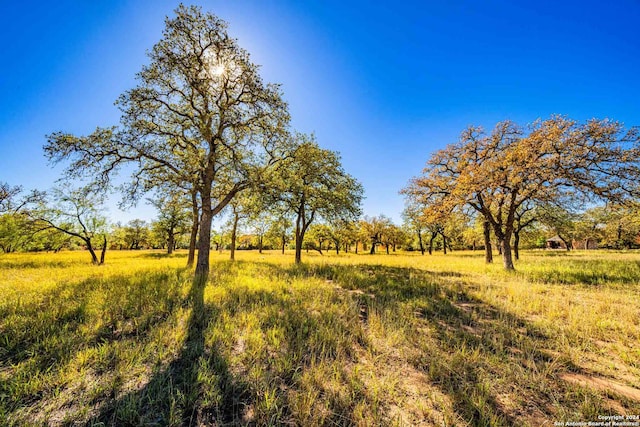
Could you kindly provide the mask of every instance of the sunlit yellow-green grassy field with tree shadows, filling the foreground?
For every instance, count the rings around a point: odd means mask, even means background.
[[[184,253],[0,256],[0,425],[640,414],[638,253],[236,256],[195,309]]]

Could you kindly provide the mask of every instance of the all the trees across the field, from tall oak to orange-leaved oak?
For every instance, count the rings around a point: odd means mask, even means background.
[[[497,247],[513,269],[523,240],[543,246],[556,235],[567,249],[638,243],[637,129],[561,116],[527,128],[505,121],[490,133],[469,127],[402,190],[398,226],[382,215],[360,218],[362,186],[337,153],[290,129],[280,87],[262,81],[224,21],[180,6],[148,56],[137,85],[117,101],[118,126],[48,136],[45,155],[66,166],[64,186],[24,194],[0,184],[0,250],[81,246],[100,264],[108,247],[186,247],[204,283],[209,252],[221,247],[233,258],[238,246],[292,244],[296,262],[303,249],[380,247],[482,247],[492,262]],[[122,205],[151,195],[151,224],[110,225],[104,216],[124,167],[133,172],[116,187]],[[222,217],[224,232],[216,232]]]

